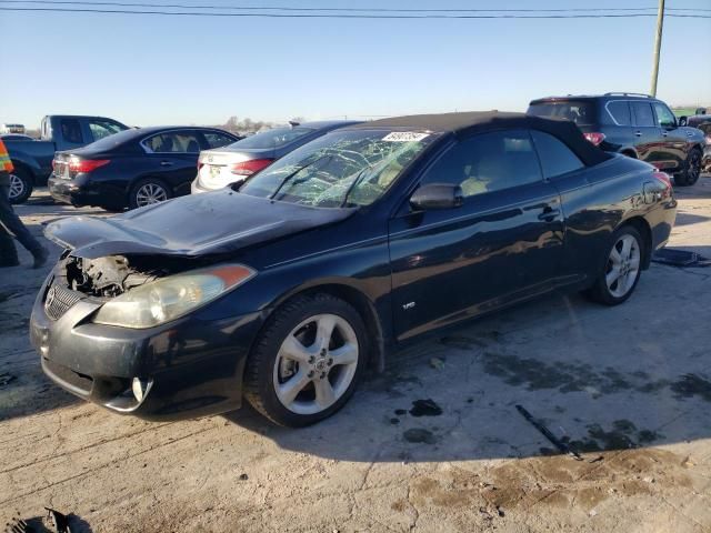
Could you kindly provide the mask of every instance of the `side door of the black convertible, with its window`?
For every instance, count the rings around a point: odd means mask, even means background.
[[[462,188],[460,208],[389,221],[395,335],[458,322],[551,286],[562,257],[563,219],[527,130],[458,141],[419,185]]]

